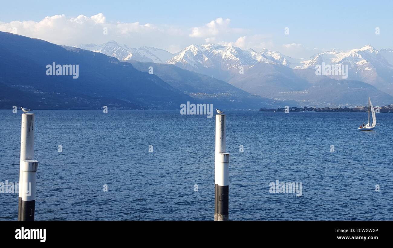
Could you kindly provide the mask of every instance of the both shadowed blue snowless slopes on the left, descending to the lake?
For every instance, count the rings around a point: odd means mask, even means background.
[[[60,75],[48,75],[52,64],[63,66],[63,73],[64,65],[77,66],[79,75],[61,75],[61,69],[56,71]],[[148,72],[149,66],[154,66],[155,73]],[[103,53],[5,32],[0,32],[0,71],[0,108],[8,109],[179,109],[187,102],[258,109],[295,103],[252,95],[170,64],[123,62]]]

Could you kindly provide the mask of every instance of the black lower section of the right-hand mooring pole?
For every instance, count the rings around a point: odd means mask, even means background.
[[[214,220],[228,221],[229,213],[229,186],[215,184]]]

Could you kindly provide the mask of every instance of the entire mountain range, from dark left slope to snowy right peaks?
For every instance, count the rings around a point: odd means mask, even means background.
[[[392,54],[365,46],[304,60],[215,44],[172,54],[114,41],[60,46],[0,32],[0,108],[178,109],[187,101],[224,109],[364,106],[367,97],[382,106],[393,103]],[[54,63],[77,65],[79,76],[48,75]],[[319,63],[348,65],[348,79],[316,75]]]

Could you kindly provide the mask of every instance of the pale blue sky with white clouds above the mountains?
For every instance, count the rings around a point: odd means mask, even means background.
[[[40,22],[46,16],[64,14],[64,19],[79,15],[91,17],[102,13],[105,23],[112,24],[110,35],[85,31],[86,27],[64,27],[57,24],[56,33],[37,25],[19,24],[18,34],[42,38],[64,45],[103,43],[114,39],[131,47],[155,46],[175,52],[189,44],[207,42],[233,44],[243,49],[262,47],[281,51],[293,57],[308,57],[333,48],[347,51],[371,44],[376,49],[393,48],[392,1],[6,1],[0,9],[1,31],[15,26],[13,21]],[[224,26],[217,30],[206,25],[217,18]],[[226,22],[226,19],[230,19]],[[116,22],[149,24],[155,30],[115,27]],[[104,22],[101,22],[105,26]],[[95,25],[97,26],[97,25]],[[118,26],[118,25],[117,25]],[[123,25],[125,26],[125,25]],[[33,28],[34,27],[34,28]],[[197,35],[191,35],[197,27]],[[204,28],[205,27],[205,28]],[[285,35],[285,27],[289,35]],[[376,27],[380,34],[375,34]],[[30,30],[28,30],[30,29]],[[36,33],[33,30],[35,29]],[[47,29],[47,33],[44,33]],[[125,30],[127,29],[127,30]],[[67,33],[64,33],[67,30]],[[217,31],[217,32],[216,32]],[[88,33],[84,37],[79,33]],[[154,33],[155,32],[155,33]],[[52,36],[51,34],[52,33]],[[55,36],[69,35],[74,39]],[[85,35],[86,36],[86,35]],[[241,38],[244,37],[244,38]],[[239,38],[241,38],[239,40]],[[207,40],[207,41],[206,41]],[[74,44],[75,43],[75,44]]]

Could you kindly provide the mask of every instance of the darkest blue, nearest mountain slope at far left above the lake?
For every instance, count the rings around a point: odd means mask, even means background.
[[[78,64],[79,78],[47,76],[46,65],[53,62]],[[131,64],[119,62],[116,58],[78,48],[67,50],[43,40],[11,33],[0,32],[0,70],[0,83],[8,87],[28,89],[26,92],[29,94],[42,92],[39,93],[42,96],[52,93],[69,98],[85,97],[83,102],[87,101],[87,106],[89,98],[110,98],[118,104],[127,102],[128,105],[124,106],[127,108],[140,106],[135,108],[174,109],[181,103],[192,100],[159,77],[138,71]],[[20,95],[7,96],[9,102],[20,101],[20,98]],[[46,100],[46,97],[41,100]],[[63,108],[70,108],[72,104],[63,100],[58,98],[56,101]],[[58,108],[56,101],[44,105]],[[99,105],[101,108],[103,105],[108,106],[105,101],[99,101]]]

